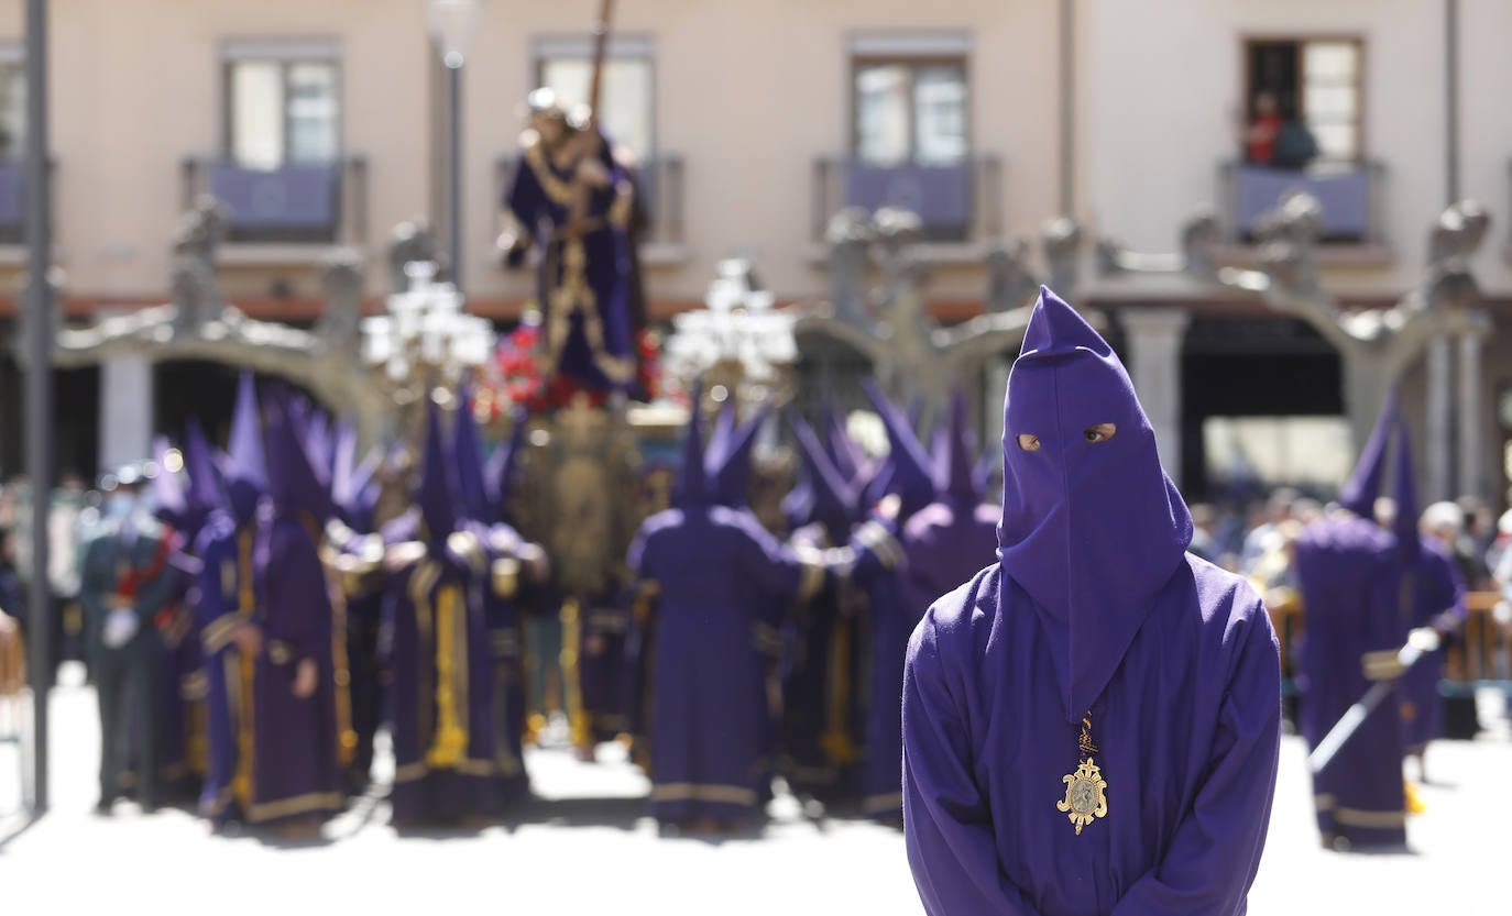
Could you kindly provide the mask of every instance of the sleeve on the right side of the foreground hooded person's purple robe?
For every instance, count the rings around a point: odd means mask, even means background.
[[[1240,913],[1259,869],[1281,756],[1281,658],[1270,618],[1255,606],[1243,639],[1208,775],[1164,859],[1129,886],[1113,916]]]

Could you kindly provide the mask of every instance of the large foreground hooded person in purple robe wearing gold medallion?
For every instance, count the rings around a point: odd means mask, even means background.
[[[1243,913],[1281,665],[1191,520],[1111,348],[1048,289],[1004,405],[998,562],[904,670],[904,824],[931,914]]]

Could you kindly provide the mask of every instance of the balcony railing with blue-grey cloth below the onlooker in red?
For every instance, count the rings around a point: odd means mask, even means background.
[[[1303,171],[1225,162],[1219,166],[1223,237],[1237,245],[1253,242],[1264,215],[1287,193],[1305,190],[1317,198],[1323,210],[1321,242],[1383,246],[1385,189],[1387,166],[1377,160]]]

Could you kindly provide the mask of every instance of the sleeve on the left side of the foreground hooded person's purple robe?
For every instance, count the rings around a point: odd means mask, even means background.
[[[930,916],[1037,916],[998,868],[987,800],[947,686],[934,611],[913,633],[903,670],[903,828],[913,883]]]

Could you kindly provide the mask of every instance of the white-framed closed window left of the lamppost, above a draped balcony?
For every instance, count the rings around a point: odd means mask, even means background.
[[[340,67],[328,42],[230,45],[225,151],[240,166],[330,163],[340,154]]]

